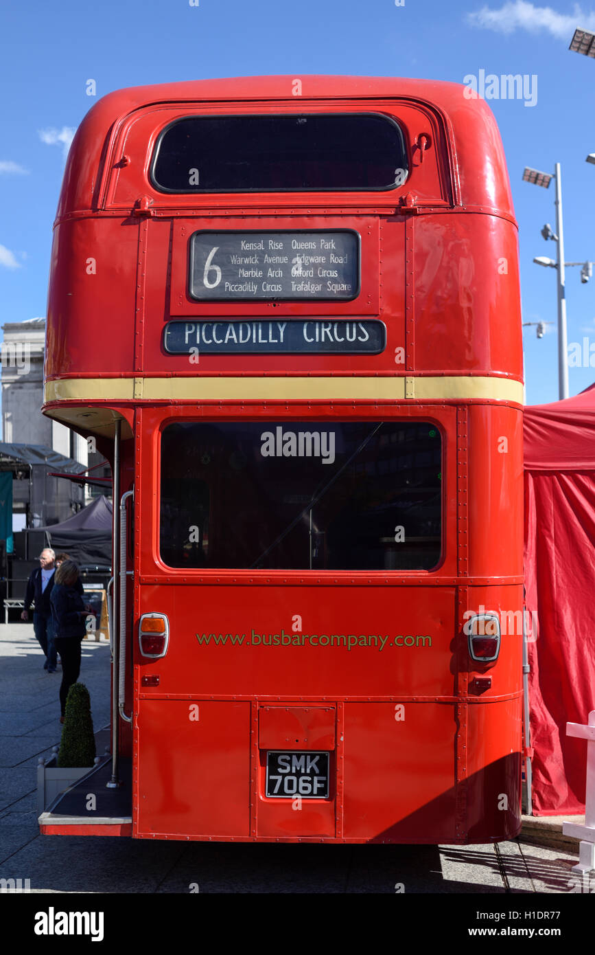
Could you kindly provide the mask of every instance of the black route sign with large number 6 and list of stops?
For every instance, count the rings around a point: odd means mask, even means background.
[[[350,301],[359,294],[359,235],[195,232],[189,290],[200,302]]]

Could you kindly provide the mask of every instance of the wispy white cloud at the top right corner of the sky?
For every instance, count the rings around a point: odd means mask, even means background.
[[[526,0],[514,0],[514,3],[509,0],[500,10],[482,7],[479,11],[467,13],[466,20],[472,27],[499,33],[545,31],[559,39],[567,39],[568,43],[577,27],[595,31],[595,13],[584,12],[578,4],[575,4],[572,13],[558,13],[551,7],[536,7]]]

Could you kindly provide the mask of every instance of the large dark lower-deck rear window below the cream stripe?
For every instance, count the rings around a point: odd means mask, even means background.
[[[420,421],[169,425],[160,551],[184,568],[435,567],[440,432]]]

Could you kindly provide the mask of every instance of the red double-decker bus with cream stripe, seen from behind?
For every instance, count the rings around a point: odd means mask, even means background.
[[[44,412],[113,467],[113,753],[42,832],[518,834],[517,226],[467,95],[204,80],[83,120]]]

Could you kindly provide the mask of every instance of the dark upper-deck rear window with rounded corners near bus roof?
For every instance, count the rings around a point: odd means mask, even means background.
[[[377,113],[176,119],[151,167],[174,193],[394,189],[406,176],[400,126]]]

